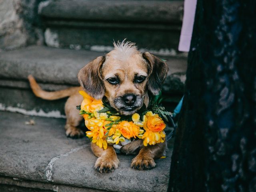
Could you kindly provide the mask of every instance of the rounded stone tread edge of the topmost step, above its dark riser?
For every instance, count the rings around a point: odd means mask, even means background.
[[[48,0],[39,6],[46,18],[181,23],[183,1]]]

